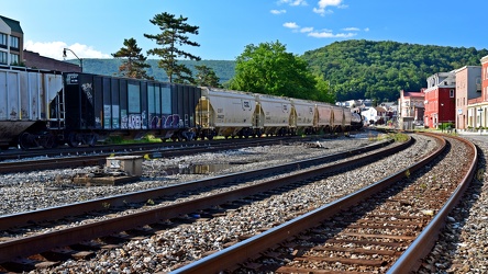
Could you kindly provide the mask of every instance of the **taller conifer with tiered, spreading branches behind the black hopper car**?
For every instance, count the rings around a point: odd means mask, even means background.
[[[151,23],[157,25],[162,33],[159,34],[144,34],[146,38],[156,41],[156,44],[160,47],[156,47],[147,50],[148,55],[159,56],[162,59],[158,61],[158,67],[165,70],[168,76],[169,82],[185,83],[193,82],[191,70],[185,65],[179,64],[177,58],[182,57],[190,60],[200,60],[201,58],[187,53],[178,46],[196,46],[199,47],[200,44],[192,42],[186,35],[195,34],[198,35],[198,26],[192,26],[187,24],[188,18],[179,16],[175,18],[175,14],[167,12],[156,14]]]

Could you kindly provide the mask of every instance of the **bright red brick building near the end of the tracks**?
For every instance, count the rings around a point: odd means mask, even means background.
[[[428,78],[425,113],[423,123],[430,128],[440,128],[443,123],[455,123],[456,73],[437,72]]]

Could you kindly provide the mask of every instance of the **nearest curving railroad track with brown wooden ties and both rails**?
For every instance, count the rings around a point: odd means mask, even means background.
[[[446,139],[414,165],[174,273],[413,272],[475,173],[476,147]]]

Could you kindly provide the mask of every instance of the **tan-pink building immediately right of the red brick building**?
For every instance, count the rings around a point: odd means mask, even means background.
[[[456,129],[466,129],[468,126],[469,100],[481,95],[481,67],[465,66],[456,71]],[[473,125],[473,123],[470,123]]]

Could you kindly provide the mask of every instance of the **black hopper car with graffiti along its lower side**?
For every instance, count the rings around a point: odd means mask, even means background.
[[[157,81],[66,73],[68,145],[95,145],[108,136],[196,137],[195,110],[200,88]]]

